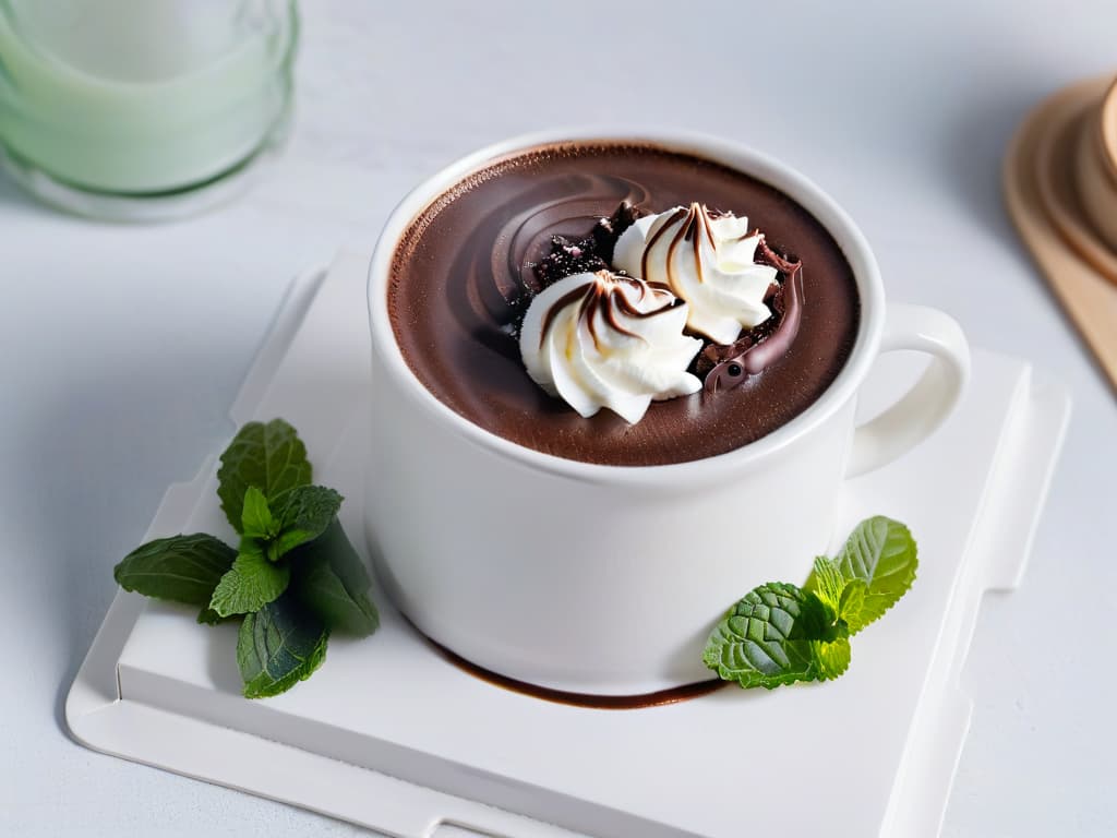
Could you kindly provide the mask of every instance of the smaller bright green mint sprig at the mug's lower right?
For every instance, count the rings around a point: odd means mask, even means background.
[[[862,521],[837,558],[814,561],[803,588],[768,582],[745,594],[714,627],[703,663],[742,687],[841,676],[850,664],[849,638],[911,587],[917,552],[904,524]]]

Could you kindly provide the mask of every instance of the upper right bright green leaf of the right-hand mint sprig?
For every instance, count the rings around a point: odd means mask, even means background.
[[[878,515],[857,525],[833,562],[847,580],[866,585],[858,612],[842,617],[850,634],[880,618],[907,592],[919,564],[917,553],[910,531],[898,521]]]

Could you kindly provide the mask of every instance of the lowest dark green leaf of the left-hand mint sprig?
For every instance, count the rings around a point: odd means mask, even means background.
[[[311,677],[326,658],[330,629],[294,597],[280,597],[245,617],[237,666],[246,698],[279,695]]]

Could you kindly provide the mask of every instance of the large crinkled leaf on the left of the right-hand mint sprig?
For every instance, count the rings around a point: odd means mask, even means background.
[[[703,661],[742,687],[772,689],[817,679],[813,644],[832,636],[831,615],[813,592],[770,582],[729,609],[710,634]]]

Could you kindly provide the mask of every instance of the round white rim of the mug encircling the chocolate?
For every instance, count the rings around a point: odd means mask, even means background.
[[[736,169],[785,193],[834,238],[853,273],[860,318],[846,364],[822,394],[803,411],[760,439],[723,454],[681,463],[618,466],[569,459],[513,442],[458,413],[411,370],[395,340],[388,314],[388,282],[395,249],[412,221],[469,174],[502,158],[541,145],[594,141],[655,145]],[[813,181],[742,143],[699,132],[640,126],[582,126],[521,134],[491,143],[441,168],[412,189],[388,217],[369,264],[366,292],[372,351],[381,359],[386,374],[404,398],[446,425],[448,430],[495,455],[537,470],[589,483],[649,485],[669,478],[672,485],[677,485],[680,480],[716,478],[767,460],[823,425],[856,396],[876,359],[885,325],[884,284],[872,250],[853,220]]]

